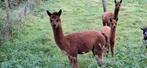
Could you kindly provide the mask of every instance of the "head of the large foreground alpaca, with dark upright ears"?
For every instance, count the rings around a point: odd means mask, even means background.
[[[59,12],[53,12],[53,13],[50,13],[48,10],[46,12],[48,16],[50,17],[50,23],[52,27],[55,29],[58,28],[61,25],[60,16],[61,16],[62,10],[60,9]]]

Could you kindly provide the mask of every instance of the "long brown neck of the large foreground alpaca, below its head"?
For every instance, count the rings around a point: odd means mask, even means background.
[[[53,28],[55,42],[61,50],[66,50],[66,39],[62,32],[62,26],[58,26],[58,28]]]

